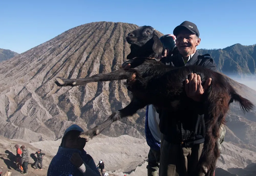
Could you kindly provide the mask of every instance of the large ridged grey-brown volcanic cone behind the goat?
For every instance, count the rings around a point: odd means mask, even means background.
[[[0,85],[0,135],[27,142],[55,140],[73,123],[91,129],[111,111],[125,107],[130,102],[125,80],[77,87],[58,87],[54,81],[57,76],[82,78],[118,69],[130,52],[125,37],[137,27],[113,22],[84,24],[1,62],[0,80],[5,84]],[[255,91],[231,81],[256,104]],[[237,103],[231,105],[226,140],[256,146],[252,135],[255,112],[244,115],[239,108]],[[144,116],[145,109],[114,122],[103,134],[143,138]]]

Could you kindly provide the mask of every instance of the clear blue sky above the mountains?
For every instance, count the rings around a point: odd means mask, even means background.
[[[185,20],[200,32],[198,48],[256,43],[256,1],[2,0],[0,48],[22,53],[68,29],[96,21],[150,25],[167,34]]]

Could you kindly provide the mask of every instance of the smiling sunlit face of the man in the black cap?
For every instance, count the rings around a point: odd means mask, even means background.
[[[201,39],[189,30],[181,30],[176,36],[176,46],[183,56],[190,56],[196,52],[196,46],[200,44]]]

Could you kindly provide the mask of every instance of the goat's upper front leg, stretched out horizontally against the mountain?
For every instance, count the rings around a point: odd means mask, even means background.
[[[77,78],[77,79],[65,79],[57,77],[55,84],[57,86],[78,86],[82,84],[87,84],[90,82],[99,82],[99,81],[114,81],[114,80],[123,80],[129,79],[132,76],[132,72],[124,69],[114,70],[110,73],[99,73],[91,77],[86,78]]]

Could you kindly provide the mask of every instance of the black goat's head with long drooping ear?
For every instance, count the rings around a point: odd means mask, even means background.
[[[158,57],[163,51],[163,45],[151,26],[142,26],[130,32],[126,41],[131,44],[131,53],[127,59],[134,57]]]

